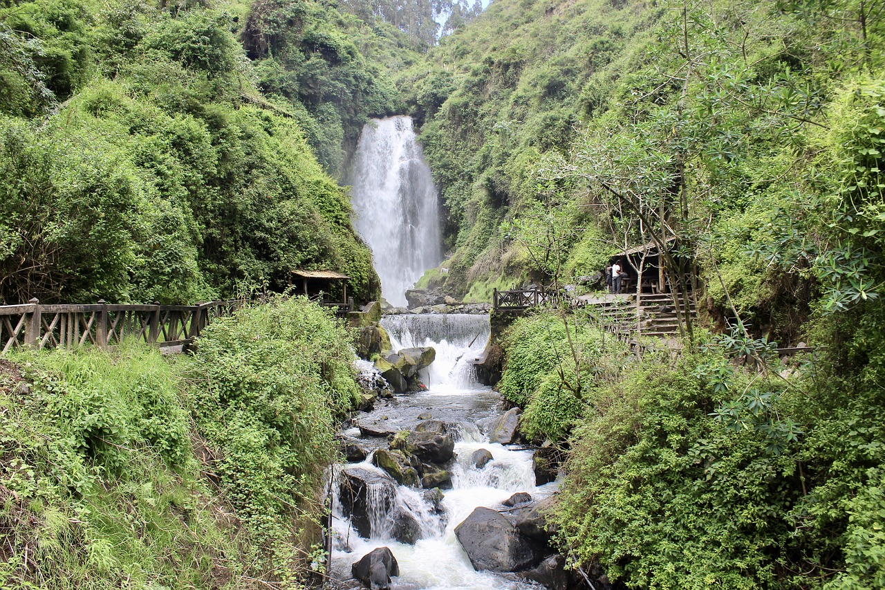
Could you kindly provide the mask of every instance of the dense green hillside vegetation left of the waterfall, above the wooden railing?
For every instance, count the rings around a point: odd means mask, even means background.
[[[317,267],[373,297],[346,193],[310,120],[258,93],[235,9],[0,8],[0,300],[183,303]]]

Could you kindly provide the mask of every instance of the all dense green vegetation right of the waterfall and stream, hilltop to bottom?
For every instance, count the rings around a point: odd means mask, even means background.
[[[637,588],[885,583],[882,16],[499,2],[404,74],[450,213],[428,284],[567,283],[656,240],[701,322],[733,326],[634,355],[582,314],[512,327],[500,388],[570,449],[574,563]],[[784,367],[769,339],[816,352]]]

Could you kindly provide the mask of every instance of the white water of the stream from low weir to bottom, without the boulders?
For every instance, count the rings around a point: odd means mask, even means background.
[[[396,486],[396,498],[379,499],[382,509],[408,511],[419,523],[419,540],[414,545],[391,538],[390,523],[378,523],[378,534],[363,539],[342,514],[340,502],[335,499],[335,551],[333,577],[350,576],[350,564],[376,547],[389,547],[399,563],[400,576],[394,578],[392,588],[409,590],[527,590],[543,586],[526,579],[508,578],[490,571],[474,571],[455,534],[474,508],[499,507],[515,492],[531,493],[543,498],[556,488],[555,484],[535,486],[532,470],[532,451],[514,449],[489,443],[475,426],[475,422],[489,415],[498,415],[503,409],[500,400],[489,387],[475,380],[471,361],[481,353],[489,339],[489,318],[486,315],[404,314],[385,316],[381,322],[388,330],[394,348],[433,346],[436,360],[431,365],[426,381],[429,388],[396,398],[394,407],[376,413],[392,430],[411,428],[418,422],[416,415],[429,411],[434,419],[458,423],[452,432],[457,457],[452,463],[452,489],[445,490],[442,502],[443,516],[437,515],[422,497],[420,491],[403,485]],[[370,416],[366,416],[366,421]],[[410,420],[412,426],[410,426]],[[356,429],[354,429],[356,430]],[[351,434],[356,432],[350,431]],[[492,454],[492,461],[481,469],[471,462],[474,451],[484,448]],[[366,462],[347,469],[381,472]],[[373,531],[375,529],[373,528]]]

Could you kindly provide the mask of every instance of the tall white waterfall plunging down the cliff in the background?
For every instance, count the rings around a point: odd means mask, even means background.
[[[411,117],[366,123],[350,184],[353,225],[372,250],[381,293],[404,306],[405,291],[442,260],[436,189]]]

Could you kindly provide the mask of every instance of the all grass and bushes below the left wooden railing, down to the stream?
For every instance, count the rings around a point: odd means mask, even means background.
[[[137,346],[0,361],[3,587],[299,587],[349,343],[293,299],[213,322],[175,362]]]

